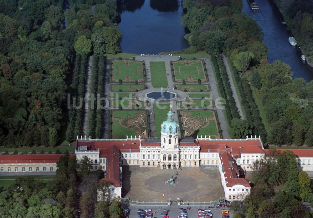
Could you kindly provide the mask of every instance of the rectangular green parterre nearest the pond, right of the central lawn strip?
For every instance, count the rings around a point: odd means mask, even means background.
[[[175,82],[202,82],[207,81],[201,60],[183,60],[173,62]]]

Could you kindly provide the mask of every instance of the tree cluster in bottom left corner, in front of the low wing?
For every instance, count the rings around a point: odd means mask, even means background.
[[[17,177],[7,189],[0,188],[1,217],[123,218],[121,201],[97,202],[97,189],[108,187],[103,171],[90,171],[90,159],[77,163],[68,153],[57,162],[56,178],[43,183],[32,176]],[[106,193],[106,192],[105,192]],[[107,193],[106,193],[107,194]],[[76,211],[80,208],[80,212]]]

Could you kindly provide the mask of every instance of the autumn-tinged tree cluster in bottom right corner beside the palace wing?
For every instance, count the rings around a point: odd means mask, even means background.
[[[255,161],[251,193],[244,201],[233,201],[232,218],[312,217],[301,201],[313,205],[310,177],[297,167],[293,152],[271,150],[266,160]],[[277,190],[283,185],[283,189]]]

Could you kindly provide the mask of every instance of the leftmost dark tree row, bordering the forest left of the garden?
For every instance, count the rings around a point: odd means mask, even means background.
[[[76,136],[81,135],[84,101],[80,102],[80,98],[84,98],[85,94],[86,68],[87,56],[77,55],[72,79],[73,91],[70,99],[69,123],[66,130],[66,141],[69,142],[74,141]],[[82,103],[82,105],[80,105],[80,103]],[[74,108],[73,105],[75,105],[76,108]]]

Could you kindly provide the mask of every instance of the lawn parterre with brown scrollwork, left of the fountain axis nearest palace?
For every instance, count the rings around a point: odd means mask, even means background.
[[[147,114],[144,110],[115,110],[112,112],[112,138],[125,139],[126,136],[144,138],[147,134]]]

